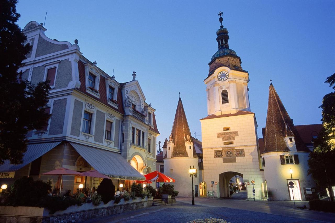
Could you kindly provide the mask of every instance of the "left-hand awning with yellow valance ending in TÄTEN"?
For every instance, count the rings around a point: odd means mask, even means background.
[[[28,144],[27,151],[23,155],[23,162],[21,164],[15,165],[11,164],[9,160],[5,160],[5,163],[0,165],[0,178],[14,177],[14,172],[16,170],[21,169],[40,156],[43,156],[60,143],[61,142]]]

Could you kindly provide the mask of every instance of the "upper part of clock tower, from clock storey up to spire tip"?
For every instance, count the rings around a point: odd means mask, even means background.
[[[209,73],[204,80],[207,91],[208,115],[235,114],[250,111],[248,82],[249,73],[241,67],[241,58],[229,49],[228,30],[223,27],[219,13],[220,28],[216,31],[218,51],[209,62]]]

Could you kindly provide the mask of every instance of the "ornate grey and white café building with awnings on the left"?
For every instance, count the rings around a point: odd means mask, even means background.
[[[52,116],[48,125],[27,134],[22,164],[7,160],[0,166],[0,182],[9,185],[29,175],[51,179],[56,189],[57,176],[41,175],[56,168],[96,169],[110,176],[116,188],[145,179],[142,174],[156,168],[159,132],[155,109],[146,102],[136,72],[131,81],[120,83],[83,56],[78,40],[52,40],[46,30],[36,21],[23,28],[32,50],[19,71],[32,84],[50,80],[46,112]],[[96,187],[99,179],[63,176],[62,191],[75,191],[80,183]]]

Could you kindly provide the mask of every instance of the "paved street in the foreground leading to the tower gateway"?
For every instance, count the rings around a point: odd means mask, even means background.
[[[100,222],[188,222],[199,218],[222,218],[229,222],[334,222],[335,214],[300,210],[277,204],[246,200],[178,198],[173,205],[150,207],[114,216],[92,219]]]

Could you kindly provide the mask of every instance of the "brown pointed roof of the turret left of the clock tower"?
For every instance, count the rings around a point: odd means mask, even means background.
[[[172,131],[171,131],[172,141],[175,144],[171,158],[188,157],[186,146],[185,146],[187,135],[189,135],[190,140],[192,142],[191,132],[190,132],[190,128],[187,123],[183,102],[179,96],[175,120],[173,122]],[[195,154],[194,151],[195,150],[193,146],[193,154]]]

